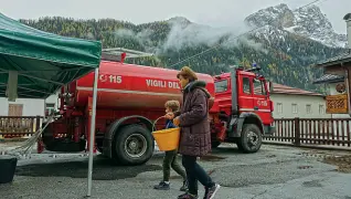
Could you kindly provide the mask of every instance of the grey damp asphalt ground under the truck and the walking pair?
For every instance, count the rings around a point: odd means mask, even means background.
[[[225,145],[201,159],[201,165],[222,185],[217,199],[351,199],[351,175],[320,161],[333,151],[263,146],[245,155]],[[3,199],[75,199],[86,195],[87,158],[81,155],[33,155],[19,161],[12,185],[0,185]],[[172,174],[171,190],[157,191],[161,155],[137,167],[111,166],[98,156],[94,161],[93,197],[98,199],[177,198],[181,179]],[[349,163],[350,164],[350,163]],[[201,190],[201,196],[203,190]]]

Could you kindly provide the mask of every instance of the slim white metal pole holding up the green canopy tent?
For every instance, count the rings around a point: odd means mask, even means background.
[[[92,196],[93,150],[94,150],[94,139],[95,139],[97,80],[98,80],[98,67],[95,69],[95,77],[94,77],[94,86],[93,86],[93,107],[92,107],[92,124],[91,124],[91,137],[89,137],[91,140],[89,140],[89,164],[88,164],[88,190],[87,190],[87,197]]]

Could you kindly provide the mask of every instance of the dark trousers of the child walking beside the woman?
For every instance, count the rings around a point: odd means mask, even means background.
[[[171,175],[171,168],[187,180],[185,170],[177,161],[177,150],[166,151],[163,158],[163,181],[169,181]]]

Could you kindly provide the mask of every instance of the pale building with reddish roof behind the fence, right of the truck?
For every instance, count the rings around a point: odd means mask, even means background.
[[[331,118],[326,114],[326,100],[319,93],[273,83],[270,98],[274,118]]]

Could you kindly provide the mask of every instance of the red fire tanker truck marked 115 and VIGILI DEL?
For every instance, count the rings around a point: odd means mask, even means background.
[[[164,115],[168,100],[181,102],[176,70],[102,61],[96,104],[95,147],[123,165],[140,165],[155,151],[153,121]],[[274,132],[273,104],[263,76],[235,69],[219,76],[198,73],[215,102],[210,111],[213,147],[234,142],[255,153],[264,134]],[[47,125],[42,143],[51,151],[87,149],[94,73],[62,87],[60,113]],[[161,121],[156,125],[159,129]]]

